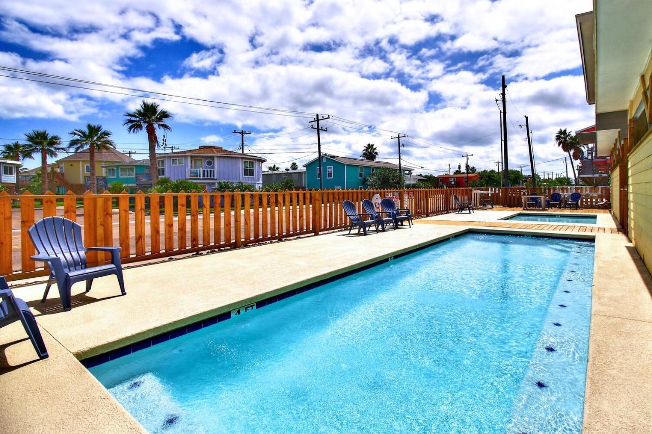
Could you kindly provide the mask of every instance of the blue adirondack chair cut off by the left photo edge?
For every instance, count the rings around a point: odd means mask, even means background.
[[[32,341],[38,358],[48,358],[48,349],[45,347],[43,337],[38,330],[37,320],[29,310],[27,304],[20,298],[14,297],[7,280],[0,276],[0,328],[20,321],[25,328],[29,340]]]

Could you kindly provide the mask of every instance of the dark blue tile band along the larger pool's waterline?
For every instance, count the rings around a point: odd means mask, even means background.
[[[378,265],[381,265],[383,263],[387,263],[389,261],[393,261],[394,259],[398,259],[400,257],[404,257],[406,255],[411,255],[412,253],[419,252],[421,250],[430,248],[436,244],[440,244],[441,242],[446,242],[449,240],[452,240],[454,238],[460,237],[462,235],[465,235],[467,233],[488,233],[491,235],[497,235],[496,232],[493,231],[481,231],[481,230],[469,230],[469,231],[464,231],[462,233],[456,233],[455,235],[451,235],[450,237],[445,237],[443,239],[439,240],[433,240],[432,242],[429,242],[427,244],[424,244],[423,246],[419,246],[416,248],[413,248],[411,250],[408,250],[407,252],[402,252],[402,253],[396,253],[396,255],[385,257],[382,259],[378,259],[378,261],[374,261],[372,263],[368,263],[366,265],[363,265],[362,267],[354,268],[353,270],[348,270],[345,272],[342,272],[340,274],[337,274],[336,276],[331,276],[329,278],[325,278],[322,280],[318,280],[317,282],[312,282],[308,283],[307,285],[303,285],[302,287],[299,287],[297,289],[290,289],[289,291],[286,291],[281,294],[273,295],[272,297],[267,297],[263,298],[262,300],[256,301],[256,309],[264,308],[265,306],[269,306],[270,304],[273,304],[275,302],[278,302],[280,300],[285,300],[286,298],[293,297],[294,295],[304,293],[306,291],[310,291],[311,289],[315,289],[316,287],[319,287],[321,285],[325,285],[327,283],[331,282],[336,282],[337,280],[344,279],[348,276],[351,276],[353,274],[357,274],[361,271],[368,270],[369,268],[374,268],[377,267]],[[515,234],[515,233],[505,233],[502,235],[509,235],[511,237],[537,237],[537,238],[548,238],[548,239],[559,239],[560,237],[549,237],[546,235],[529,235],[529,234]],[[568,238],[568,239],[574,239],[574,240],[587,240],[590,241],[590,239],[583,239],[583,238],[574,238],[574,237],[563,237],[563,238]],[[213,317],[204,319],[203,321],[198,321],[196,323],[192,323],[187,326],[175,328],[174,330],[171,330],[170,332],[165,332],[156,336],[153,336],[152,338],[147,338],[145,340],[141,340],[138,342],[131,343],[130,345],[126,345],[125,347],[120,347],[118,349],[114,349],[109,351],[108,353],[103,353],[99,354],[97,356],[92,356],[89,358],[85,358],[83,360],[80,360],[82,362],[83,366],[85,368],[93,368],[93,366],[100,365],[102,363],[106,363],[110,360],[115,360],[117,358],[126,356],[131,353],[136,353],[136,351],[140,351],[141,349],[149,348],[153,345],[156,345],[157,343],[162,343],[165,341],[169,341],[174,338],[179,338],[180,336],[184,336],[188,333],[195,332],[197,330],[200,330],[201,328],[208,327],[217,323],[221,323],[222,321],[226,321],[227,319],[231,319],[231,311],[220,313],[218,315],[215,315]]]

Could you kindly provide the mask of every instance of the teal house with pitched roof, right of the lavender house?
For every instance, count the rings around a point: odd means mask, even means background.
[[[318,159],[310,160],[303,167],[306,168],[306,188],[308,190],[318,189],[320,175]],[[398,164],[330,154],[321,154],[321,167],[323,167],[324,171],[323,188],[325,190],[366,188],[366,177],[374,173],[379,167],[398,170]],[[411,167],[402,167],[404,176],[411,170]]]

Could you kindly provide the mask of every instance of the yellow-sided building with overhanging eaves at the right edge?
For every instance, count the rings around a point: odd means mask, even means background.
[[[578,14],[596,149],[611,155],[612,214],[652,270],[652,1],[594,0]]]

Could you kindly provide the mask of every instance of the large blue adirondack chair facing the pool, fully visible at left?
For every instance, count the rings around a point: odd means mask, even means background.
[[[30,227],[27,232],[38,254],[31,257],[33,261],[48,263],[50,280],[43,294],[44,302],[48,297],[50,285],[57,282],[63,310],[72,308],[70,304],[70,287],[76,282],[86,282],[86,292],[91,291],[93,279],[115,274],[122,295],[125,295],[122,265],[119,247],[84,247],[82,227],[63,217],[46,217]],[[111,252],[111,263],[88,267],[86,252]]]

